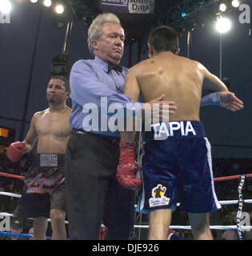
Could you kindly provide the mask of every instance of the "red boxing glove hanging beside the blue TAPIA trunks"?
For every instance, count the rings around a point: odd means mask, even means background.
[[[134,160],[135,142],[120,141],[120,158],[116,178],[118,183],[130,190],[137,190],[142,186],[142,180],[136,177],[139,169]]]

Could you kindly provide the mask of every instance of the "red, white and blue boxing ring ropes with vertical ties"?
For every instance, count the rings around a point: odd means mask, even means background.
[[[2,172],[0,172],[0,176],[9,177],[9,178],[18,178],[19,180],[25,179],[25,177],[23,177],[23,176],[14,175],[14,174],[6,174],[6,173],[2,173]],[[243,185],[245,184],[246,178],[251,178],[251,177],[252,177],[252,174],[239,174],[239,175],[233,175],[233,176],[224,176],[224,177],[214,178],[214,182],[222,182],[222,181],[227,181],[227,180],[232,180],[232,179],[239,179],[238,200],[218,201],[222,206],[238,204],[238,210],[237,210],[237,214],[236,214],[237,225],[210,226],[211,230],[237,230],[239,240],[243,240],[242,231],[249,231],[249,230],[252,231],[252,226],[242,225],[242,220],[241,220],[243,204],[251,204],[252,203],[252,199],[243,199],[243,197],[242,197],[242,188],[243,188]],[[12,197],[12,198],[20,198],[21,197],[20,194],[14,194],[14,193],[4,192],[4,191],[0,191],[0,196],[8,196],[8,197]],[[179,207],[179,203],[177,204],[177,206]],[[14,215],[9,214],[9,213],[0,213],[0,217],[14,217]],[[28,218],[28,219],[32,219],[32,218]],[[50,218],[48,218],[48,222],[50,222]],[[65,223],[68,224],[67,221],[65,221]],[[134,229],[139,230],[138,234],[141,234],[142,229],[147,229],[147,228],[149,228],[149,226],[142,225],[142,221],[140,221],[140,225],[134,225]],[[170,226],[169,228],[171,230],[190,230],[190,226]],[[33,237],[32,234],[11,233],[11,232],[2,232],[2,231],[0,231],[0,236],[23,237],[23,238],[32,238]],[[51,238],[46,237],[46,239],[50,240]],[[140,240],[140,235],[138,236],[138,240]]]

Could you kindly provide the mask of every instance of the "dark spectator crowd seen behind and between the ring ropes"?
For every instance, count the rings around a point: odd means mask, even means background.
[[[22,159],[13,163],[6,158],[5,152],[0,154],[0,173],[14,174],[25,176],[26,172],[30,168],[31,154],[26,154]],[[228,158],[213,158],[213,171],[214,177],[223,177],[238,174],[250,174],[252,173],[252,162],[250,159],[228,159]],[[0,191],[10,192],[14,194],[22,194],[24,182],[21,179],[3,177],[0,175]],[[238,179],[232,179],[228,181],[214,182],[215,192],[219,201],[226,200],[238,200]],[[243,199],[251,199],[252,195],[252,178],[246,178],[245,185],[242,189]],[[16,207],[18,198],[7,197],[0,195],[0,212],[12,213]],[[210,214],[210,226],[234,226],[236,225],[236,214],[238,205],[222,206],[221,210],[218,210]],[[252,210],[250,204],[243,204],[243,212],[250,214],[250,222],[252,220]],[[142,225],[148,225],[148,218],[146,215],[142,216]],[[176,214],[173,216],[171,223],[172,226],[189,225],[187,214],[179,210],[176,210]],[[251,224],[250,224],[251,225]],[[24,225],[24,233],[28,233],[32,223],[26,222]],[[180,239],[190,240],[193,239],[190,230],[176,230],[176,234]],[[50,235],[50,226],[49,226]],[[238,239],[237,230],[212,230],[214,239],[218,240],[235,240]],[[242,232],[243,238],[252,240],[252,231]],[[132,238],[136,238],[133,234]],[[1,238],[0,238],[1,239]]]

